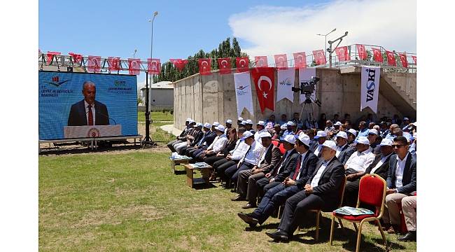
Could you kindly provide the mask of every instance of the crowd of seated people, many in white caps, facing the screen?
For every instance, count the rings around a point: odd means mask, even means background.
[[[349,113],[333,115],[307,128],[294,113],[276,120],[238,118],[225,126],[186,120],[186,128],[167,145],[172,152],[187,155],[193,162],[207,162],[214,169],[210,181],[236,193],[231,200],[245,202],[238,216],[250,227],[261,225],[279,208],[283,217],[275,232],[276,241],[293,239],[308,210],[334,211],[356,207],[360,179],[376,174],[386,181],[382,227],[388,233],[416,240],[416,123],[409,118],[361,116],[351,124]],[[287,121],[288,120],[288,121]],[[253,127],[255,126],[255,127]],[[336,193],[344,187],[344,200]],[[360,206],[375,211],[371,206]],[[402,212],[402,214],[400,214]],[[402,219],[407,232],[402,234]]]

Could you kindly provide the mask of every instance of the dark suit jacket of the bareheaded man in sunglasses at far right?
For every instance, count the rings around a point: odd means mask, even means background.
[[[397,155],[393,154],[388,161],[388,175],[387,175],[387,187],[389,189],[396,188],[395,186],[395,172],[397,166]],[[402,193],[405,195],[411,195],[414,191],[417,190],[417,162],[412,157],[411,154],[407,154],[407,160],[405,163],[405,169],[403,171],[402,177],[402,187],[397,188],[398,193]]]

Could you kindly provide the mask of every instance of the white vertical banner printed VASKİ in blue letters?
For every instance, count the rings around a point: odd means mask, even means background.
[[[381,67],[362,66],[360,74],[360,111],[366,107],[377,113],[377,101],[379,99],[379,79]]]

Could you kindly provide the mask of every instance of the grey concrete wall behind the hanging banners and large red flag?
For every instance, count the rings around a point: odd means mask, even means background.
[[[275,79],[277,79],[276,74],[275,71]],[[321,108],[318,108],[316,104],[313,105],[316,120],[320,113],[325,113],[328,118],[332,118],[334,113],[338,113],[340,118],[344,113],[350,113],[352,123],[356,123],[360,116],[372,113],[370,109],[360,112],[360,73],[342,74],[339,69],[318,68],[316,76],[321,78],[316,86],[316,97],[322,102]],[[298,86],[298,71],[295,71],[294,85]],[[271,114],[279,119],[282,113],[286,113],[288,118],[291,118],[294,112],[300,113],[302,110],[302,105],[299,104],[299,94],[295,93],[294,102],[283,99],[275,102],[275,111],[265,109],[264,113],[261,113],[252,78],[251,87],[254,115],[244,109],[241,113],[242,118],[249,118],[253,122],[257,122],[268,118]],[[375,117],[391,117],[395,113],[403,116],[383,94],[379,94],[378,112]],[[209,76],[200,76],[197,73],[176,81],[174,83],[174,127],[182,129],[186,118],[193,118],[202,123],[218,121],[224,124],[227,119],[237,122],[233,73],[222,75],[215,72]],[[306,118],[305,114],[303,118]],[[234,124],[236,125],[236,123]]]

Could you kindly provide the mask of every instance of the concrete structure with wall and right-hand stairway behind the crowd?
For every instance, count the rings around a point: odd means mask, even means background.
[[[322,102],[321,108],[313,105],[316,120],[320,113],[325,113],[327,118],[332,118],[335,113],[340,117],[344,113],[350,113],[351,122],[355,124],[360,116],[372,113],[369,108],[360,112],[360,67],[318,68],[316,76],[321,78],[316,87],[316,96]],[[275,82],[276,79],[275,71]],[[297,82],[298,71],[295,71],[295,87],[298,85]],[[254,115],[244,109],[241,113],[243,118],[257,122],[268,118],[271,114],[279,119],[282,113],[286,113],[290,118],[294,112],[300,113],[302,109],[302,105],[299,104],[299,94],[295,93],[293,103],[283,99],[275,102],[275,111],[266,109],[261,113],[252,79],[251,87]],[[381,72],[379,104],[375,118],[392,117],[395,113],[401,117],[416,118],[416,73]],[[213,72],[209,76],[200,76],[197,73],[176,81],[174,83],[174,127],[182,129],[186,118],[193,118],[202,123],[214,121],[223,123],[227,119],[232,119],[236,125],[237,103],[233,74],[222,75]]]

